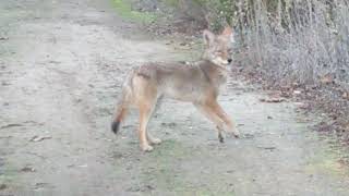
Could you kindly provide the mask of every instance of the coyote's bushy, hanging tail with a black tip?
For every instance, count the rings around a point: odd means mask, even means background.
[[[121,98],[117,105],[117,112],[115,114],[113,121],[111,123],[111,131],[117,134],[121,121],[128,113],[130,103],[132,102],[132,78],[134,76],[134,71],[129,75],[122,87]]]

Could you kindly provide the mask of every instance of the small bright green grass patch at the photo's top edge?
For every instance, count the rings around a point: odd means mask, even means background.
[[[123,19],[131,20],[134,22],[141,23],[152,23],[156,21],[157,15],[152,12],[139,12],[132,10],[131,2],[127,0],[112,0],[113,5],[119,13],[119,15]]]

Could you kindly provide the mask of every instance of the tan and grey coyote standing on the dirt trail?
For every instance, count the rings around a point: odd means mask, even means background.
[[[128,109],[140,111],[139,137],[142,150],[152,151],[149,144],[161,140],[147,132],[147,124],[158,99],[163,96],[192,102],[205,117],[216,124],[218,139],[224,143],[222,130],[239,137],[234,123],[217,102],[219,87],[227,82],[231,63],[232,29],[228,26],[220,35],[203,32],[205,51],[202,60],[192,64],[147,63],[133,68],[123,84],[115,120],[111,124],[117,134]],[[149,142],[149,143],[148,143]]]

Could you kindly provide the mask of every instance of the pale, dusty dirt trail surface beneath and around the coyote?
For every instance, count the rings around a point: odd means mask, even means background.
[[[151,121],[163,144],[139,148],[137,113],[110,131],[132,65],[185,59],[142,36],[108,0],[0,2],[0,195],[349,195],[336,150],[294,103],[261,102],[230,81],[219,101],[243,134],[219,144],[190,103]]]

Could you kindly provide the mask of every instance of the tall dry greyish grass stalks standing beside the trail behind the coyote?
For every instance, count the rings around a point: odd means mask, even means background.
[[[348,89],[349,7],[346,0],[181,0],[197,3],[210,29],[236,29],[244,66],[260,66],[275,82],[335,81]]]

